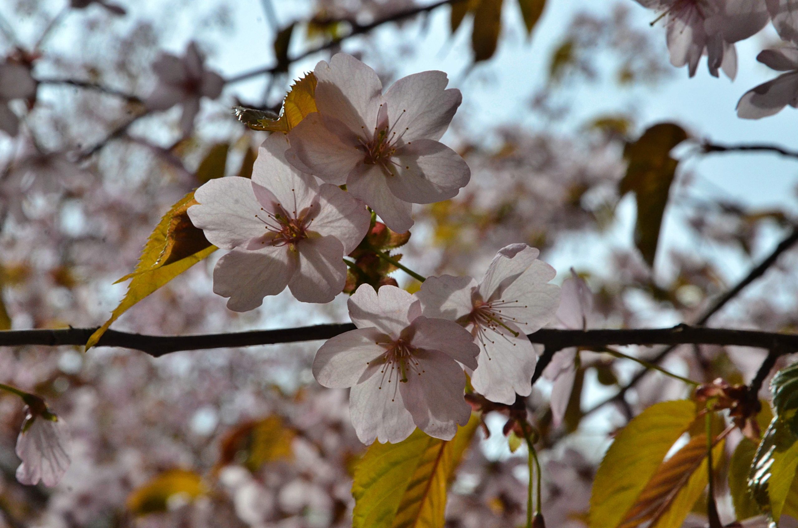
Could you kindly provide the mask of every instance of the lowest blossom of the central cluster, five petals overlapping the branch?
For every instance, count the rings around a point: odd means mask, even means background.
[[[401,442],[416,427],[452,439],[471,415],[460,367],[476,368],[480,350],[471,334],[422,316],[417,298],[396,286],[360,286],[349,311],[358,329],[322,345],[313,374],[325,387],[352,388],[350,416],[361,442]]]

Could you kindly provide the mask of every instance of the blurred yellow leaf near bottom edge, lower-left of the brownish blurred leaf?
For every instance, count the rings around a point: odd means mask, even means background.
[[[128,510],[136,515],[167,511],[169,502],[191,501],[206,492],[202,477],[193,471],[164,471],[128,495]]]

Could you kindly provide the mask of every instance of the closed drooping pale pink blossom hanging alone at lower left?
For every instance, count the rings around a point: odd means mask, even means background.
[[[26,417],[17,437],[17,456],[22,459],[17,480],[28,486],[40,480],[45,486],[55,486],[69,467],[69,429],[38,396],[26,395],[25,401]]]

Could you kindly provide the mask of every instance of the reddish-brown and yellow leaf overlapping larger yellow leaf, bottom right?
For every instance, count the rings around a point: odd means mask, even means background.
[[[714,455],[722,454],[722,444],[713,447]],[[647,523],[651,528],[681,526],[707,485],[706,452],[706,435],[697,435],[661,463],[626,512],[621,528]]]

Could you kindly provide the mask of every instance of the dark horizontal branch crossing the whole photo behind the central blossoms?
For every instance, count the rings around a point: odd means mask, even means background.
[[[277,330],[207,333],[188,336],[152,336],[109,330],[97,346],[136,349],[152,357],[180,350],[222,349],[254,345],[275,345],[320,341],[354,329],[350,323],[302,326]],[[69,328],[57,330],[6,330],[0,332],[0,346],[85,345],[96,329]],[[757,330],[715,329],[703,326],[677,325],[661,329],[541,329],[529,334],[533,343],[553,351],[569,347],[587,349],[608,345],[738,345],[760,349],[798,350],[798,334],[760,332]]]

